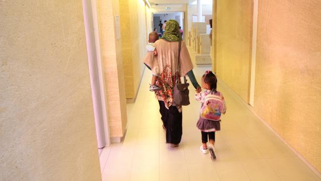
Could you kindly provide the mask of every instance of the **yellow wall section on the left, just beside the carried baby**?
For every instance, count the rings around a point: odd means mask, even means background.
[[[143,73],[147,44],[145,4],[120,0],[120,23],[126,98],[134,99]]]

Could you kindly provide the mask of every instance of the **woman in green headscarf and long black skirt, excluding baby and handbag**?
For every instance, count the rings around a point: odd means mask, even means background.
[[[180,60],[179,45],[181,44]],[[158,75],[156,85],[161,87],[160,91],[155,92],[159,103],[159,112],[162,115],[163,128],[166,129],[166,142],[171,147],[177,147],[182,139],[182,106],[173,105],[173,93],[175,85],[175,74],[180,61],[179,77],[188,75],[193,86],[201,91],[201,86],[197,83],[192,71],[193,64],[190,54],[179,31],[179,23],[175,20],[167,22],[166,31],[162,39],[154,44],[157,49],[157,56],[145,57],[154,58],[154,61],[148,65],[153,74]]]

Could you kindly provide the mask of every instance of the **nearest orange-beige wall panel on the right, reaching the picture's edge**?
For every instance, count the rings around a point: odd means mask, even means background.
[[[257,113],[321,171],[320,1],[259,1]]]

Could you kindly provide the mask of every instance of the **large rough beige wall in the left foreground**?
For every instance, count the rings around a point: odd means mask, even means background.
[[[0,180],[101,180],[81,1],[0,7]]]

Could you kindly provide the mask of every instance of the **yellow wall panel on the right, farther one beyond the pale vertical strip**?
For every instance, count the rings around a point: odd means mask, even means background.
[[[249,101],[252,14],[251,0],[217,1],[216,73],[246,102]]]

